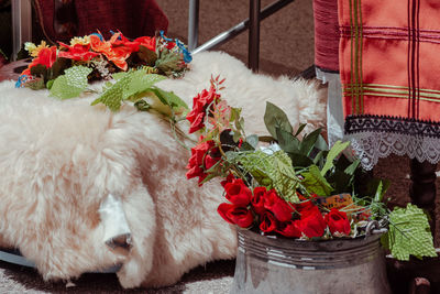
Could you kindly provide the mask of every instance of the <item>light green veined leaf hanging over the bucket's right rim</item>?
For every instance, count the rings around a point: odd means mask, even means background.
[[[409,255],[437,257],[428,218],[424,210],[408,204],[406,208],[397,207],[389,214],[389,230],[384,236],[393,257],[409,260]]]

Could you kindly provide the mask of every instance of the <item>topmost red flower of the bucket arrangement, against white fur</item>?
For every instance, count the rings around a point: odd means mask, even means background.
[[[194,133],[205,127],[207,108],[218,98],[220,98],[220,95],[217,94],[212,86],[209,91],[204,89],[193,98],[193,110],[186,116],[186,119],[191,123],[189,133]]]

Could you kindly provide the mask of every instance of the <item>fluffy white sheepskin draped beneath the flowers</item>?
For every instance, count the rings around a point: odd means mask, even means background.
[[[211,74],[227,79],[222,97],[243,108],[248,133],[265,133],[267,100],[293,126],[324,122],[317,85],[254,75],[224,53],[200,53],[183,79],[157,86],[190,106]],[[123,287],[169,285],[197,265],[234,258],[234,228],[217,214],[222,188],[186,179],[189,152],[169,124],[130,105],[117,113],[91,107],[94,99],[59,101],[0,83],[1,244],[20,249],[45,280],[122,264]],[[109,194],[121,199],[130,249],[105,242],[99,208]]]

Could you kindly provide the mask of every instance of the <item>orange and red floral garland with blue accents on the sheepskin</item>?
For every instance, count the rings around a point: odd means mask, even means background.
[[[88,80],[111,79],[114,73],[132,68],[148,67],[148,73],[167,77],[179,77],[188,69],[191,55],[179,40],[164,35],[141,36],[129,40],[121,32],[112,32],[106,41],[102,34],[94,33],[74,37],[69,44],[58,42],[48,46],[25,43],[33,57],[16,83],[16,87],[33,89],[51,88],[52,81],[74,66],[90,68]]]

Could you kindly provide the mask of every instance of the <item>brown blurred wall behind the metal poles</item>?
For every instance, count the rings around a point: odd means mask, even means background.
[[[178,6],[176,2],[178,1]],[[185,0],[157,0],[167,15],[168,35],[187,43],[188,4]],[[262,0],[261,9],[273,0]],[[199,45],[249,18],[250,1],[200,0]],[[312,0],[297,0],[263,20],[260,34],[260,72],[295,76],[314,63]],[[248,64],[248,31],[216,50]]]

